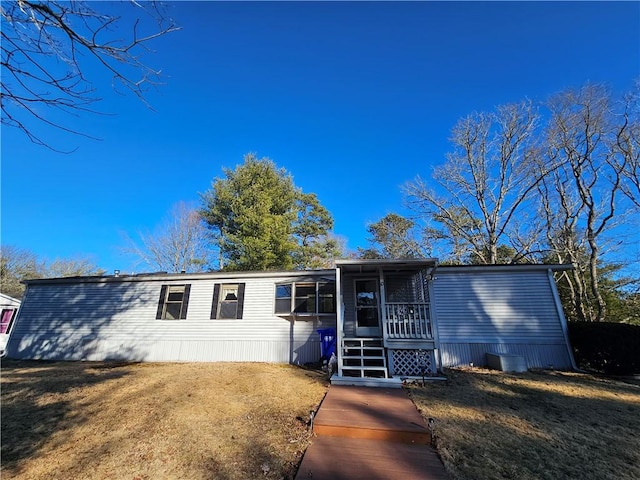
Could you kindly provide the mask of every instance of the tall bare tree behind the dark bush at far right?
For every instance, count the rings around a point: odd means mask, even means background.
[[[558,165],[540,190],[549,243],[559,260],[567,258],[576,265],[569,283],[578,317],[603,321],[606,302],[598,264],[607,234],[627,213],[621,192],[630,157],[621,139],[637,125],[628,115],[616,114],[611,94],[602,85],[562,92],[548,106],[545,158]]]

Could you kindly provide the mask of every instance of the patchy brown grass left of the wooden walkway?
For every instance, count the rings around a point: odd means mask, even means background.
[[[2,362],[2,478],[293,478],[319,372],[254,363]]]

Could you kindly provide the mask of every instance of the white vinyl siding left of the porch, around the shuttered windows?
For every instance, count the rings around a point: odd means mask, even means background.
[[[140,361],[264,361],[320,358],[317,328],[335,316],[292,321],[276,316],[275,283],[246,278],[242,319],[212,320],[215,283],[238,279],[166,279],[29,285],[8,354],[14,358]],[[162,285],[190,284],[184,320],[156,320]]]

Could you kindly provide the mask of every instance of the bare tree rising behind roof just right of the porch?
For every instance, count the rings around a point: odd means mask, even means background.
[[[495,113],[473,114],[453,128],[452,153],[432,175],[436,188],[418,177],[405,186],[410,208],[428,224],[433,239],[447,241],[479,263],[499,261],[500,245],[514,249],[511,261],[527,255],[516,247],[534,243],[522,222],[532,193],[540,181],[534,175],[538,149],[538,113],[532,103],[498,107]],[[462,252],[456,257],[461,259]]]

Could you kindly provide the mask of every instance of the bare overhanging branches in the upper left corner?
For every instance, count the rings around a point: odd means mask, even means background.
[[[97,5],[112,12],[120,7]],[[91,106],[100,98],[83,70],[90,61],[112,76],[114,88],[122,87],[144,101],[148,88],[158,84],[160,71],[145,63],[143,53],[154,39],[178,27],[156,2],[132,0],[129,6],[139,15],[99,13],[89,2],[3,1],[2,123],[48,147],[36,133],[38,122],[88,136],[52,119],[50,113],[97,113]],[[127,38],[117,38],[120,32],[127,32]]]

